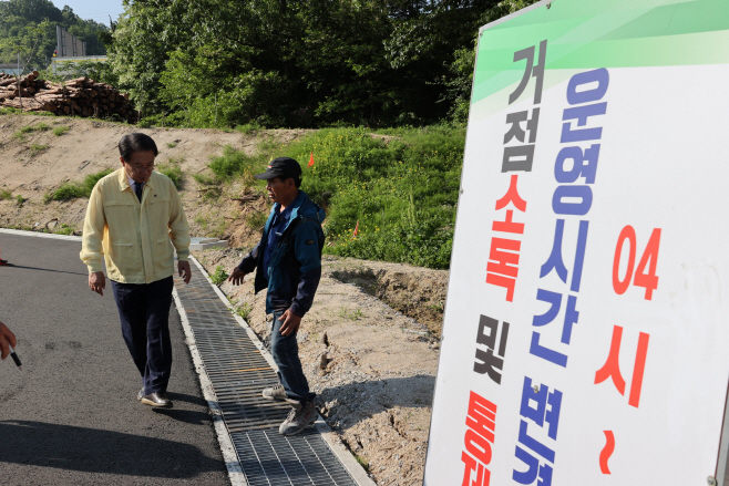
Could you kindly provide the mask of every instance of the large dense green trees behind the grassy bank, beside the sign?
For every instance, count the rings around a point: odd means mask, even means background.
[[[125,0],[109,45],[151,123],[424,125],[468,113],[480,25],[533,0]]]

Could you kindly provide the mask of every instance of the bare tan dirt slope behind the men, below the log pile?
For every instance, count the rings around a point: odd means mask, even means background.
[[[38,130],[42,125],[45,128]],[[55,135],[53,130],[59,127],[68,131]],[[233,200],[242,195],[238,184],[224,186],[219,194],[207,194],[194,175],[208,173],[211,157],[220,155],[226,145],[253,154],[261,143],[286,144],[306,133],[301,130],[242,134],[219,130],[136,128],[84,118],[0,115],[0,194],[4,190],[12,195],[4,200],[0,196],[0,226],[52,231],[63,227],[79,234],[88,200],[47,204],[44,196],[65,182],[82,180],[90,174],[119,167],[117,143],[133,131],[155,139],[158,166],[174,164],[182,169],[179,194],[193,234],[229,239],[233,245],[247,242],[257,228],[249,229],[240,223],[265,209],[267,201],[256,195],[244,201]]]

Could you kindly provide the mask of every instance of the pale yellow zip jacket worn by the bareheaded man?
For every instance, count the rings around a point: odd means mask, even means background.
[[[171,244],[172,240],[172,244]],[[189,225],[175,185],[154,172],[144,185],[142,204],[124,168],[99,180],[91,193],[83,225],[81,260],[89,272],[102,271],[122,283],[151,283],[174,272],[177,258],[189,256]]]

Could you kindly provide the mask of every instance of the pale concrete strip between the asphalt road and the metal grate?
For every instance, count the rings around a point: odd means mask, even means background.
[[[248,486],[248,480],[243,473],[243,466],[240,465],[238,453],[233,446],[233,440],[230,438],[228,428],[226,427],[225,421],[223,420],[223,411],[220,411],[220,407],[218,406],[217,395],[213,390],[213,384],[207,375],[207,371],[205,370],[205,364],[199,355],[199,351],[197,350],[195,334],[193,333],[193,329],[189,327],[187,312],[185,311],[185,307],[179,299],[177,289],[173,288],[172,297],[175,302],[177,313],[179,314],[179,321],[182,322],[183,330],[185,331],[185,342],[189,349],[189,354],[193,358],[193,364],[195,364],[195,371],[197,372],[203,396],[207,401],[207,406],[211,410],[213,426],[215,428],[215,434],[217,435],[220,453],[223,454],[223,461],[225,462],[225,467],[228,469],[228,479],[230,480],[230,485]]]

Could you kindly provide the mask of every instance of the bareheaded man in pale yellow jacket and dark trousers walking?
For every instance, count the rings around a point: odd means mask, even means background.
[[[157,146],[132,133],[119,143],[122,167],[99,180],[83,226],[81,260],[89,267],[89,288],[103,296],[104,257],[122,334],[142,375],[137,400],[171,407],[166,396],[172,369],[168,314],[174,272],[189,282],[189,225],[172,180],[154,170]]]

